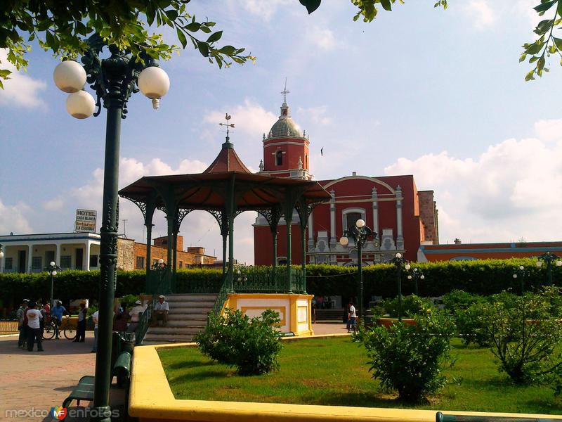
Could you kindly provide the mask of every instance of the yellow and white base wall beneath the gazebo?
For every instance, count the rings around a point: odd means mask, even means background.
[[[313,295],[297,295],[287,293],[229,293],[223,306],[225,309],[236,309],[250,317],[260,316],[266,309],[279,313],[281,319],[279,329],[282,333],[294,335],[313,335],[311,301]]]

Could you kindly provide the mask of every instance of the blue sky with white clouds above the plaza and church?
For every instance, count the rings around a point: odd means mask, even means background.
[[[223,30],[221,42],[244,46],[256,63],[219,70],[192,49],[161,63],[171,88],[159,110],[141,93],[129,101],[119,188],[204,170],[224,141],[225,113],[238,155],[256,171],[287,78],[315,179],[414,174],[420,190],[434,191],[440,243],[560,240],[561,66],[551,58],[551,72],[525,82],[530,65],[518,63],[539,1],[450,1],[446,11],[433,3],[409,0],[362,23],[346,0],[324,0],[312,15],[296,0],[191,1],[197,18]],[[174,42],[171,32],[164,39]],[[52,81],[58,59],[38,46],[29,58],[0,91],[0,235],[72,231],[77,208],[98,210],[99,229],[105,113],[70,117]],[[255,217],[235,220],[235,257],[248,264]],[[122,199],[119,220],[119,234],[143,241],[136,205]],[[165,234],[157,212],[153,236]],[[206,212],[185,217],[180,234],[221,254]]]

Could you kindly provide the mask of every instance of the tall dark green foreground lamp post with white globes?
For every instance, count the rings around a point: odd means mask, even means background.
[[[115,298],[117,267],[117,189],[119,176],[119,137],[121,120],[126,117],[126,104],[131,94],[140,89],[152,99],[156,109],[159,98],[169,89],[169,78],[157,68],[148,54],[136,60],[128,51],[120,51],[115,45],[107,46],[110,57],[100,58],[105,43],[94,34],[88,39],[90,46],[81,58],[83,65],[66,60],[55,68],[53,79],[62,91],[70,95],[66,108],[72,117],[84,119],[98,116],[101,103],[107,108],[105,132],[105,169],[103,177],[103,210],[100,228],[100,300],[98,322],[98,352],[96,352],[96,382],[93,408],[96,421],[110,422],[109,392],[111,381],[112,312]],[[96,92],[97,101],[84,91],[84,84]],[[137,88],[138,86],[138,88]],[[98,111],[94,110],[98,107]]]

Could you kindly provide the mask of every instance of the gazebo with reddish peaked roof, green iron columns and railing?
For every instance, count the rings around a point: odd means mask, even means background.
[[[330,195],[316,181],[264,176],[251,173],[238,157],[228,133],[220,153],[207,170],[199,174],[173,174],[138,179],[119,191],[119,196],[135,203],[143,212],[146,226],[147,293],[195,293],[176,291],[176,238],[181,222],[190,212],[204,210],[216,218],[223,238],[223,279],[218,302],[222,307],[235,286],[234,219],[244,211],[257,211],[266,217],[273,234],[273,268],[266,279],[254,280],[252,293],[306,294],[306,228],[313,208],[329,201]],[[150,243],[155,210],[166,214],[168,224],[167,269],[162,277],[151,276]],[[277,271],[277,225],[285,217],[287,227],[299,219],[302,242],[301,271],[292,268],[291,250],[287,267]],[[292,231],[287,230],[287,245]],[[228,265],[226,242],[228,239]],[[152,290],[152,291],[151,291]],[[156,291],[158,290],[158,291]],[[248,290],[246,290],[248,291]]]

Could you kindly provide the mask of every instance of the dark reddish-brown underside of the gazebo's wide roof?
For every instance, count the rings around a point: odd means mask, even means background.
[[[148,176],[122,188],[119,195],[141,203],[148,203],[152,197],[156,207],[165,207],[164,196],[171,193],[181,209],[227,210],[230,186],[234,186],[238,211],[270,210],[285,204],[289,196],[295,199],[300,196],[307,203],[330,199],[329,193],[316,181],[242,172]]]

